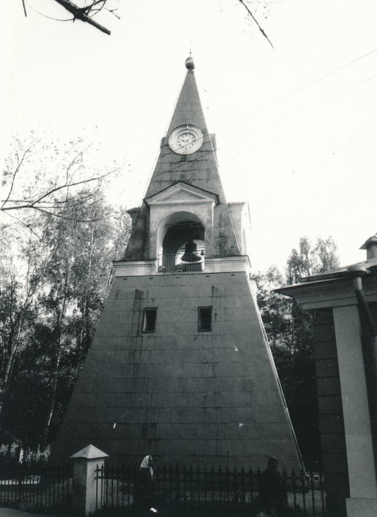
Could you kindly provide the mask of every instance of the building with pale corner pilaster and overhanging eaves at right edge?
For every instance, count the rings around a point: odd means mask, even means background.
[[[329,517],[377,516],[377,235],[367,260],[279,290],[314,312]]]

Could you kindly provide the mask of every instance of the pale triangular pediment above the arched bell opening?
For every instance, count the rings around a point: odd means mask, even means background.
[[[147,197],[144,201],[147,205],[180,205],[185,203],[214,203],[217,205],[218,196],[213,192],[179,181]]]

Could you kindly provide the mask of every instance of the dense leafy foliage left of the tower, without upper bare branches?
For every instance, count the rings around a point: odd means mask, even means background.
[[[111,261],[128,239],[128,214],[89,189],[75,193],[69,219],[37,212],[32,231],[5,230],[12,247],[0,260],[3,442],[53,439],[112,283]]]

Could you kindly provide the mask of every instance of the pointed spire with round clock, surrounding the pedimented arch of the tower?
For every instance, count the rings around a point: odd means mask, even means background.
[[[214,211],[213,256],[238,255],[240,249],[218,174],[214,135],[207,130],[191,56],[185,60],[185,67],[185,81],[169,129],[161,141],[160,156],[145,199],[182,181],[215,194],[219,203]],[[143,202],[134,217],[126,260],[154,258],[156,251],[149,248],[149,227],[149,209]]]

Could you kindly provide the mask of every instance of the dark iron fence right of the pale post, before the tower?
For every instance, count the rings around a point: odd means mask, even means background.
[[[136,466],[97,467],[97,507],[132,509],[137,471]],[[195,516],[256,516],[261,511],[260,476],[260,469],[158,466],[153,475],[154,506],[160,514],[167,509],[192,509]],[[323,474],[283,471],[282,485],[286,494],[284,516],[326,516]]]

